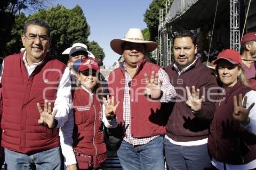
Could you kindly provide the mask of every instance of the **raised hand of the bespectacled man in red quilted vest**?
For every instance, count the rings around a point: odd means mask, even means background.
[[[45,108],[42,110],[39,103],[36,104],[37,109],[40,113],[40,119],[38,120],[38,123],[42,126],[45,126],[49,129],[53,128],[55,126],[54,117],[57,113],[57,110],[52,112],[52,106],[51,102],[48,102],[45,100]]]

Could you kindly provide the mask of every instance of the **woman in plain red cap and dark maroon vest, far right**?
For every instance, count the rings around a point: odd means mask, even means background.
[[[223,93],[210,126],[211,163],[217,169],[256,168],[256,92],[248,87],[238,51],[220,52],[214,64]]]

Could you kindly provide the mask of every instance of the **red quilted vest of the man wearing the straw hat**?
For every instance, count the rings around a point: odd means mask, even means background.
[[[153,101],[144,96],[145,89],[144,74],[148,77],[151,71],[157,73],[160,66],[151,62],[142,60],[139,62],[137,71],[130,82],[130,116],[131,116],[131,135],[132,137],[149,137],[154,135],[162,135],[165,133],[165,125],[167,117],[165,115],[162,104],[158,101]],[[120,104],[117,107],[116,115],[119,123],[123,126],[123,96],[125,87],[125,72],[124,68],[117,68],[111,71],[108,77],[108,88],[111,96],[115,97]],[[124,127],[123,127],[124,128]]]

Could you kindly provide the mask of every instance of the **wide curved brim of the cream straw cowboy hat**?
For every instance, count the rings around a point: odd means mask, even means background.
[[[143,40],[127,40],[127,39],[114,39],[110,42],[110,47],[112,48],[112,50],[114,52],[116,52],[117,54],[122,55],[123,54],[123,50],[121,47],[121,44],[124,42],[134,42],[134,43],[142,43],[142,44],[146,44],[147,47],[145,49],[145,53],[149,53],[153,50],[155,50],[157,48],[157,43],[154,41],[143,41]]]

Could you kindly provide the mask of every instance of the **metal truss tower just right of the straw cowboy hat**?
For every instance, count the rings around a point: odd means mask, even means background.
[[[166,1],[165,14],[169,12],[170,2]],[[159,10],[159,25],[158,25],[158,65],[166,68],[171,64],[171,39],[170,28],[167,28],[164,19],[164,10]]]

